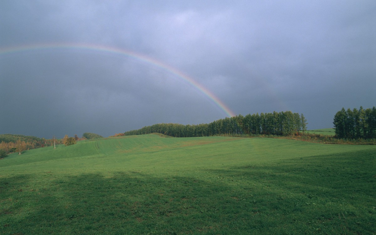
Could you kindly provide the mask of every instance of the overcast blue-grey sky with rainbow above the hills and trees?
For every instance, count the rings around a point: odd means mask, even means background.
[[[376,106],[376,1],[2,0],[0,134]]]

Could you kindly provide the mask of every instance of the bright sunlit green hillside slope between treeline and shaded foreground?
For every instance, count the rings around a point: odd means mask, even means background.
[[[376,149],[376,146],[325,145],[288,139],[158,135],[123,136],[80,141],[12,154],[2,170],[119,169],[244,165]]]

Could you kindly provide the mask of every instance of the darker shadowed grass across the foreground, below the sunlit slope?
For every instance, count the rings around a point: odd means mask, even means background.
[[[375,153],[0,179],[2,234],[372,234]]]

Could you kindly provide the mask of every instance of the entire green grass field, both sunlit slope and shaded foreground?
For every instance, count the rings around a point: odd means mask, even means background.
[[[0,160],[0,234],[374,234],[376,146],[80,141]]]

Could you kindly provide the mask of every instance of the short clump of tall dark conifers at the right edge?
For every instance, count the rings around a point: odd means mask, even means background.
[[[342,108],[335,114],[333,124],[338,138],[376,138],[376,108]]]

